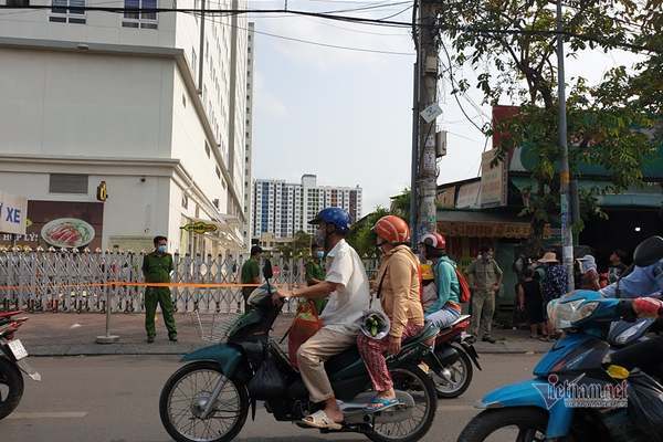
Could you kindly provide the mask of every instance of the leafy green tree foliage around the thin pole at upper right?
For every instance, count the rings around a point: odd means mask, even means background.
[[[590,86],[582,77],[571,78],[569,85],[571,172],[577,172],[580,162],[602,166],[611,176],[612,191],[640,183],[643,160],[661,143],[655,123],[663,110],[662,11],[661,0],[565,1],[567,57],[578,57],[586,49],[610,51],[623,44],[653,50],[642,53],[634,66],[610,70],[598,85]],[[475,86],[484,103],[507,101],[520,106],[513,119],[486,133],[509,135],[498,147],[499,158],[518,146],[528,146],[538,158],[533,170],[536,186],[529,207],[522,212],[532,215],[533,243],[540,243],[544,225],[559,212],[556,36],[536,32],[554,31],[555,21],[555,2],[548,0],[450,1],[440,14],[443,38],[451,40],[455,52],[452,56],[442,46],[451,66],[445,72],[469,66],[476,72]],[[476,31],[482,29],[522,32]],[[466,80],[454,78],[454,94],[471,87]],[[580,201],[583,219],[604,217],[596,194],[580,194]],[[582,222],[575,228],[581,229]]]

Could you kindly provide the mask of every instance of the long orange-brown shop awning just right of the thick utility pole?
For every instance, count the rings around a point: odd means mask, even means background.
[[[509,212],[438,210],[438,231],[451,238],[527,239],[529,220]],[[546,238],[550,231],[546,229]]]

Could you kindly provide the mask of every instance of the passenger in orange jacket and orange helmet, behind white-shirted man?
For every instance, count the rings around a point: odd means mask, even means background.
[[[390,328],[381,339],[370,333],[360,334],[357,345],[377,392],[367,407],[375,412],[399,403],[385,351],[399,354],[402,340],[423,328],[423,309],[419,297],[419,260],[407,245],[410,240],[408,224],[398,217],[387,215],[378,220],[372,231],[377,236],[376,245],[382,252],[376,297],[389,318]]]

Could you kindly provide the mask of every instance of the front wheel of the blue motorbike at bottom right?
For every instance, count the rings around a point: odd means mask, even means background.
[[[538,408],[486,410],[467,423],[457,442],[543,442],[547,425],[548,413]]]

